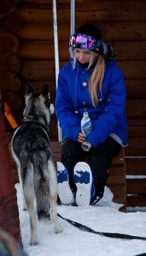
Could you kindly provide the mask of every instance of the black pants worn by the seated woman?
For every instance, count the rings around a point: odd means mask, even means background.
[[[74,166],[87,158],[87,163],[92,170],[96,194],[99,196],[103,193],[111,162],[120,149],[121,145],[111,137],[108,137],[104,143],[98,145],[97,148],[90,149],[88,152],[82,149],[80,143],[75,143],[75,141],[68,138],[62,141],[61,162],[69,172],[69,183],[72,189],[76,192]]]

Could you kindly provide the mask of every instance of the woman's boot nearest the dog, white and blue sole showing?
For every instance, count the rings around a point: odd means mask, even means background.
[[[74,194],[69,186],[69,174],[61,162],[57,162],[58,196],[62,204],[73,204]]]

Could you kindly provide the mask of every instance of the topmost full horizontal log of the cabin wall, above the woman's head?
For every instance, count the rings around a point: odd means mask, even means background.
[[[109,2],[108,2],[109,5]],[[97,4],[98,6],[98,4]],[[92,7],[92,6],[90,6]],[[146,10],[131,10],[129,9],[101,9],[101,10],[88,10],[76,11],[78,9],[78,3],[75,2],[75,20],[82,22],[84,19],[88,21],[139,21],[140,19],[145,21]],[[19,17],[20,21],[24,23],[35,23],[35,22],[52,22],[53,11],[52,9],[39,9],[39,8],[28,8],[20,7],[15,12]],[[58,22],[66,23],[70,21],[70,6],[69,9],[58,9]]]

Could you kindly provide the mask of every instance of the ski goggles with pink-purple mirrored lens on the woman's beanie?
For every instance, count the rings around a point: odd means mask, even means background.
[[[84,34],[72,34],[69,41],[69,46],[77,47],[84,50],[97,50],[101,45],[101,40],[95,40],[93,37],[85,36]]]

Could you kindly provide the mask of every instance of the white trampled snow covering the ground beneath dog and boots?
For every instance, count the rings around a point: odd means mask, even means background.
[[[54,234],[49,220],[38,222],[39,244],[29,245],[30,224],[28,212],[22,210],[20,184],[15,185],[24,250],[28,256],[134,256],[146,253],[146,241],[123,240],[84,232],[59,218],[64,227]],[[98,232],[117,232],[146,237],[146,212],[119,212],[113,194],[105,187],[103,199],[96,206],[57,206],[58,213]]]

